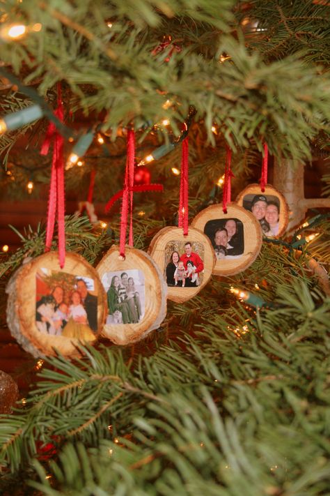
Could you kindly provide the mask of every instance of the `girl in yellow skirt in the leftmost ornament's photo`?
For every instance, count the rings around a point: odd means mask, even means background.
[[[63,329],[62,336],[66,338],[76,338],[81,341],[91,341],[95,335],[88,326],[87,313],[81,303],[81,296],[78,291],[71,294],[71,304],[68,312],[68,324]]]

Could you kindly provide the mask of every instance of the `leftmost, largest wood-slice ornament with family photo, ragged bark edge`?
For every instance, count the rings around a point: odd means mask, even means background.
[[[10,332],[33,356],[55,356],[56,351],[79,356],[77,345],[93,343],[102,329],[102,284],[95,269],[76,253],[66,253],[63,269],[53,251],[26,260],[6,292]]]

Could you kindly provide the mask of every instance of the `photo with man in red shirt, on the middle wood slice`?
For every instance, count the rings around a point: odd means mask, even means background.
[[[166,283],[196,287],[203,281],[204,246],[199,241],[169,241],[165,247]]]

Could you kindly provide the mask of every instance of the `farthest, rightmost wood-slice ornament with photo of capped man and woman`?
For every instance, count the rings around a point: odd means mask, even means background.
[[[239,193],[236,202],[253,213],[264,236],[281,236],[288,227],[288,204],[282,193],[270,184],[266,184],[263,193],[259,184],[250,184]]]

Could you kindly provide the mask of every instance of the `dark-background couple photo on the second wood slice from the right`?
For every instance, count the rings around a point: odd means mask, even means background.
[[[237,218],[209,220],[204,227],[210,238],[217,260],[242,257],[244,253],[244,227]]]

